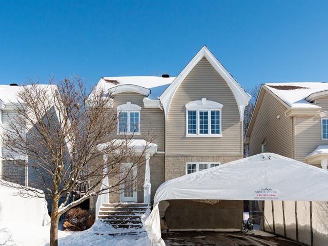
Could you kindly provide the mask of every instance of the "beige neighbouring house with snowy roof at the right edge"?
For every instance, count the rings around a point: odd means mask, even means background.
[[[271,152],[326,170],[328,84],[262,85],[245,143],[249,146],[250,156]],[[250,202],[250,214],[259,223],[261,212],[254,202]]]

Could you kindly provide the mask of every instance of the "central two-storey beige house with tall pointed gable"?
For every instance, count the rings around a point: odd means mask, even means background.
[[[119,114],[117,138],[124,132],[135,132],[138,140],[133,145],[137,149],[145,144],[149,130],[156,135],[145,156],[145,169],[140,170],[146,173],[145,183],[144,175],[140,189],[110,194],[109,202],[149,204],[167,180],[243,158],[243,113],[250,95],[205,46],[177,77],[103,77],[96,88],[107,89],[106,96],[113,99],[111,107]],[[242,201],[214,202],[214,206],[206,201],[194,203],[170,201],[167,215],[175,211],[172,216],[177,221],[174,224],[167,219],[170,228],[179,226],[187,213],[180,209],[188,206],[194,206],[190,213],[202,210],[212,216],[208,223],[194,217],[197,221],[185,224],[189,228],[190,224],[194,228],[216,227],[216,222],[224,223],[222,227],[241,228]],[[233,222],[222,220],[227,211],[232,212]]]

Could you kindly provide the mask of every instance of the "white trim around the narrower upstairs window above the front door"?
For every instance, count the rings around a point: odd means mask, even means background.
[[[131,104],[131,101],[127,101],[126,104],[122,104],[122,105],[119,105],[116,107],[117,109],[117,135],[140,135],[141,134],[141,120],[140,120],[140,111],[141,111],[141,107],[139,105],[136,105],[136,104]],[[120,132],[119,131],[119,114],[120,113],[127,113],[128,114],[128,122],[127,122],[127,131],[126,132]],[[138,125],[138,130],[139,131],[134,131],[134,132],[131,132],[130,131],[130,125],[131,125],[131,117],[130,117],[130,114],[131,113],[139,113],[139,118],[138,118],[138,121],[139,121],[139,125]]]

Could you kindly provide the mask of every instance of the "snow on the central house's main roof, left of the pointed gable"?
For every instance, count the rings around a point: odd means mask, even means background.
[[[135,85],[150,90],[149,99],[157,99],[172,83],[175,77],[163,78],[158,76],[122,76],[100,78],[95,89],[106,91],[122,85]]]

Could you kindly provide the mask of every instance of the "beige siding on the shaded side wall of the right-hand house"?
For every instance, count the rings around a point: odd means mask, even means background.
[[[258,103],[260,108],[249,141],[250,155],[261,153],[265,141],[268,152],[293,158],[292,118],[285,116],[286,107],[267,91]]]

